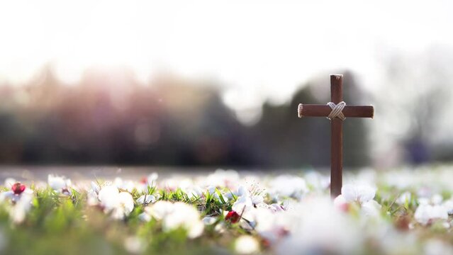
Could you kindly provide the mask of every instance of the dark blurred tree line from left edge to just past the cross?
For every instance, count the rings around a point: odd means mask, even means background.
[[[114,84],[121,86],[111,86]],[[366,102],[351,73],[345,100]],[[303,84],[301,84],[303,85]],[[87,72],[65,86],[45,68],[23,86],[0,86],[3,164],[156,164],[179,166],[325,166],[330,125],[298,119],[298,103],[325,103],[329,84],[304,84],[289,103],[264,103],[242,124],[218,84],[161,76],[140,84],[132,73]],[[320,98],[313,90],[320,89]],[[363,102],[362,102],[363,101]],[[369,163],[364,120],[345,123],[345,164]]]

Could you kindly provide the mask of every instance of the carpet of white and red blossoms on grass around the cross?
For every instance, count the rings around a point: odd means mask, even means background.
[[[328,176],[315,171],[241,176],[217,170],[77,183],[57,175],[49,175],[47,183],[6,179],[0,226],[1,220],[12,224],[0,227],[0,237],[27,229],[77,237],[75,229],[84,229],[92,236],[104,233],[101,239],[112,247],[119,241],[129,254],[175,247],[183,247],[175,253],[448,254],[453,251],[451,170],[361,171],[345,177],[335,199],[329,196]],[[13,241],[0,244],[0,251],[17,249]]]

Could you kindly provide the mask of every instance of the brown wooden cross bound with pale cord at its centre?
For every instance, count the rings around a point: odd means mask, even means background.
[[[330,117],[330,196],[341,194],[343,171],[343,120],[345,117],[373,118],[373,106],[346,106],[343,101],[343,75],[330,74],[330,103],[310,105],[300,103],[298,116]],[[342,108],[344,106],[344,108]],[[332,117],[333,115],[333,117]]]

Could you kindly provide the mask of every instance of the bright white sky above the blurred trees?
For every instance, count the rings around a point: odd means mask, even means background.
[[[313,75],[349,68],[373,88],[388,52],[453,45],[452,1],[0,0],[0,80],[50,63],[74,83],[89,67],[209,77],[225,103],[281,102]]]

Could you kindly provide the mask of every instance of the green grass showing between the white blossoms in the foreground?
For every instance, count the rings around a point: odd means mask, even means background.
[[[410,174],[412,173],[409,173],[409,176]],[[433,171],[432,174],[436,175],[437,172]],[[379,174],[381,175],[385,174]],[[417,175],[414,174],[414,176]],[[364,205],[349,203],[347,212],[342,213],[355,222],[351,227],[359,228],[362,232],[360,247],[357,249],[359,253],[391,254],[385,248],[389,240],[376,239],[375,232],[380,225],[392,229],[391,231],[398,233],[398,238],[401,238],[398,239],[401,247],[395,249],[398,251],[396,254],[400,253],[399,249],[405,251],[403,253],[417,254],[418,251],[421,252],[425,243],[432,239],[453,244],[451,215],[446,220],[430,220],[428,224],[421,224],[415,220],[415,212],[422,203],[420,201],[423,200],[421,191],[425,191],[427,186],[431,187],[431,193],[440,195],[442,203],[452,199],[453,188],[448,185],[442,186],[442,183],[425,183],[425,185],[423,178],[405,188],[388,185],[383,181],[384,178],[378,178],[377,192],[374,196],[374,200],[380,206],[378,217],[364,217],[362,214]],[[272,181],[272,177],[264,181],[266,183],[264,185],[265,188],[272,189],[272,186],[269,186],[269,180]],[[100,186],[105,185],[104,181],[96,182]],[[301,222],[305,220],[297,218],[303,217],[299,216],[298,210],[301,210],[301,215],[304,215],[303,210],[306,210],[304,208],[311,206],[308,205],[310,200],[318,199],[319,193],[323,194],[321,197],[328,196],[328,187],[317,191],[313,183],[307,183],[307,186],[309,191],[303,196],[281,196],[273,191],[259,190],[259,194],[264,196],[266,206],[272,203],[281,205],[288,200],[293,205],[300,205],[301,209],[293,210],[295,213],[292,215],[289,209],[288,212],[282,212],[287,213],[289,219],[291,217],[293,219],[293,222],[289,222],[288,229],[279,229],[277,224],[274,229],[271,229],[279,233],[277,236],[280,241],[295,236],[297,232],[292,233],[289,229],[298,225],[299,220]],[[204,192],[199,194],[192,191],[185,192],[183,188],[170,190],[154,183],[142,189],[133,188],[130,191],[120,189],[130,193],[135,201],[133,210],[121,220],[112,218],[109,212],[106,212],[104,204],[89,204],[89,191],[86,188],[72,186],[69,188],[70,195],[55,191],[50,186],[38,187],[33,183],[28,188],[33,190],[33,199],[30,202],[32,207],[26,212],[26,217],[21,222],[14,222],[12,217],[12,209],[18,203],[9,199],[0,202],[0,254],[230,254],[237,251],[235,240],[243,235],[254,237],[259,244],[260,252],[269,254],[279,252],[275,246],[280,241],[275,242],[272,238],[269,239],[269,233],[255,229],[257,223],[252,219],[242,218],[237,223],[225,220],[225,213],[232,210],[233,204],[238,199],[237,192],[230,190],[229,187],[218,186],[211,190],[205,188]],[[293,188],[297,190],[298,187]],[[10,188],[1,186],[0,190],[5,193],[10,191]],[[403,193],[410,193],[410,198],[401,203],[398,198]],[[189,238],[189,230],[184,227],[168,229],[164,220],[156,217],[150,217],[149,221],[143,220],[142,215],[146,214],[152,206],[137,202],[143,195],[155,196],[157,201],[190,205],[198,211],[198,220],[211,217],[212,222],[204,225],[201,236]],[[257,209],[252,208],[252,210]],[[320,209],[313,210],[316,216]],[[242,215],[242,212],[240,214]],[[379,222],[379,225],[375,222]],[[258,222],[258,227],[259,224]],[[346,233],[347,230],[345,229]],[[309,229],[309,231],[313,231],[315,235],[316,229]],[[308,233],[308,237],[310,234]],[[329,233],[326,233],[326,236],[329,236]],[[409,249],[410,245],[403,241],[406,237],[415,238],[413,244],[415,248],[412,250]],[[311,249],[307,252],[312,252]],[[318,253],[323,254],[323,249],[319,251]],[[335,254],[336,251],[333,253]],[[338,253],[344,254],[340,251]]]

